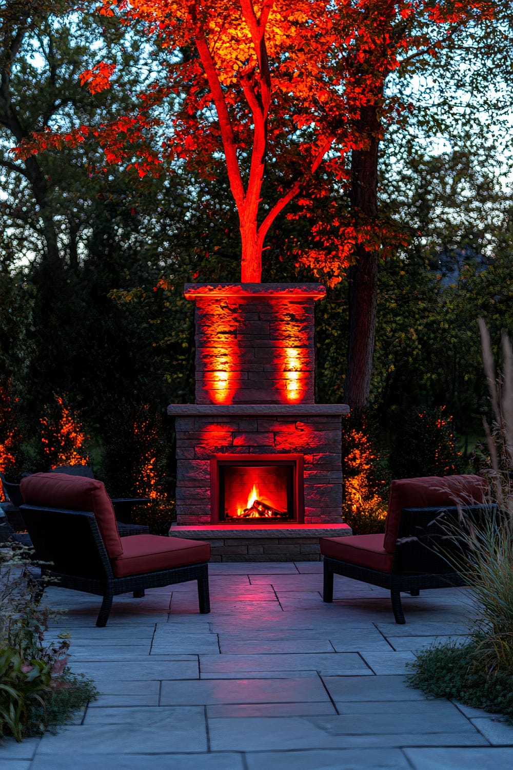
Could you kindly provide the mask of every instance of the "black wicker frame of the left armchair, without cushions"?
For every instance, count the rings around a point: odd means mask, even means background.
[[[190,580],[198,581],[199,611],[210,612],[206,562],[115,577],[95,514],[35,505],[22,505],[21,511],[36,557],[45,564],[52,564],[52,567],[42,567],[42,577],[56,578],[59,588],[72,588],[103,597],[96,621],[98,627],[107,624],[112,599],[116,595],[133,591],[135,598],[141,598],[145,595],[145,588],[160,588]],[[39,601],[44,590],[43,581]]]

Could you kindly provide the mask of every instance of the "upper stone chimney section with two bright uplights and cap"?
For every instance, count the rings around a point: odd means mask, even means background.
[[[314,302],[322,286],[188,284],[196,403],[314,403]]]

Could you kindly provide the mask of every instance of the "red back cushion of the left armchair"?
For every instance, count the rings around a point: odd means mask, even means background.
[[[102,481],[68,474],[33,474],[22,479],[20,488],[23,500],[28,505],[92,511],[108,557],[116,559],[122,555],[123,547],[114,508]]]

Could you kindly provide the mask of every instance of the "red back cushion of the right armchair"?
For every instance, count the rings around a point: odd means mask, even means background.
[[[443,505],[474,505],[485,502],[488,484],[480,476],[425,476],[396,479],[390,485],[385,524],[385,551],[393,554],[403,508],[430,508]]]

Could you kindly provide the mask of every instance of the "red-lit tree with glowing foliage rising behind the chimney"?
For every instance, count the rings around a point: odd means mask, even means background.
[[[134,115],[44,132],[22,154],[94,136],[107,163],[140,176],[158,173],[163,158],[209,177],[225,166],[249,282],[260,280],[265,236],[291,199],[305,196],[308,214],[334,184],[350,188],[351,216],[318,222],[312,248],[297,255],[334,283],[355,258],[401,243],[376,203],[378,143],[404,109],[385,97],[388,75],[438,55],[453,28],[490,18],[491,0],[104,0],[100,13],[143,25],[164,52],[165,80],[139,95]],[[82,83],[98,92],[113,69],[99,62]],[[154,108],[170,99],[164,125]]]

